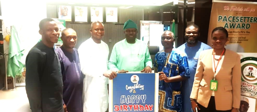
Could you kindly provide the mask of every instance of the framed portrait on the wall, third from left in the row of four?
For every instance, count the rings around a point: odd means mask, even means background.
[[[103,7],[90,7],[91,22],[103,22]]]

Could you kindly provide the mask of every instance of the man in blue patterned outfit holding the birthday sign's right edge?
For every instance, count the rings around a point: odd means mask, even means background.
[[[187,57],[173,48],[174,41],[174,34],[164,31],[164,49],[154,59],[154,70],[159,73],[159,112],[182,112],[181,81],[190,78]]]

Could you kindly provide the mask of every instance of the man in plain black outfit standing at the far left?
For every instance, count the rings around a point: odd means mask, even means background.
[[[60,62],[54,52],[60,32],[57,23],[45,18],[39,23],[42,41],[26,57],[26,92],[32,112],[63,112]]]

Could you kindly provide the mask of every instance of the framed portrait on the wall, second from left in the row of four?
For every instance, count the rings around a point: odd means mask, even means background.
[[[75,6],[75,22],[87,22],[87,7]]]

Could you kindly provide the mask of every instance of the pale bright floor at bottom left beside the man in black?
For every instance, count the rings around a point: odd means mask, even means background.
[[[25,87],[14,91],[0,90],[1,112],[31,112]]]

